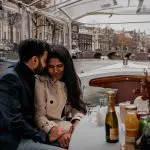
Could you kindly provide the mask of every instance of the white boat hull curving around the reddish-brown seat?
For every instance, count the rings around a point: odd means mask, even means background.
[[[82,83],[84,101],[87,103],[98,103],[101,93],[105,93],[106,89],[100,87],[89,86],[89,81],[93,78],[107,77],[114,75],[144,75],[144,69],[150,72],[146,65],[138,65],[130,62],[124,66],[122,63],[110,65],[100,69],[92,70],[79,74]]]

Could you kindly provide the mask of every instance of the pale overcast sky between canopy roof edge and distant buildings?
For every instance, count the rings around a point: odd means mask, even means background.
[[[99,27],[108,26],[114,30],[125,30],[131,31],[140,30],[141,32],[146,32],[150,35],[150,15],[91,15],[79,19],[79,22],[87,24],[98,24]],[[128,23],[128,24],[105,24],[105,23],[123,23],[123,22],[147,22],[147,23]]]

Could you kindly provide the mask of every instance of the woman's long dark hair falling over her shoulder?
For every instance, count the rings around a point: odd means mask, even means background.
[[[72,107],[77,110],[86,113],[85,103],[82,101],[81,82],[76,74],[73,60],[69,51],[60,45],[50,45],[50,51],[48,52],[47,63],[51,58],[58,58],[64,64],[64,75],[61,79],[66,85],[68,102]]]

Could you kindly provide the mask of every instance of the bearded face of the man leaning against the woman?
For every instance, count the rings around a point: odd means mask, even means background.
[[[41,57],[37,57],[37,66],[34,69],[34,72],[36,74],[40,74],[43,72],[44,68],[46,67],[46,59],[47,59],[47,52],[45,51],[44,54]]]

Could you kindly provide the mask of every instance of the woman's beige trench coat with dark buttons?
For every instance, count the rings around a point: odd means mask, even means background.
[[[37,76],[35,82],[35,121],[38,127],[46,133],[53,126],[61,126],[66,131],[70,129],[71,122],[63,121],[62,111],[71,113],[72,120],[80,120],[84,115],[67,103],[67,90],[61,81],[53,82],[48,76]]]

